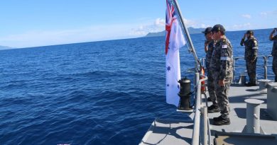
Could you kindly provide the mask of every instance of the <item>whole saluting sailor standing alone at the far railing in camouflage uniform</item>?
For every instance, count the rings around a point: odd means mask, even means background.
[[[247,40],[245,40],[247,38]],[[241,46],[245,46],[244,59],[246,61],[249,83],[246,86],[256,86],[256,64],[258,55],[258,42],[252,30],[247,30],[241,39]]]

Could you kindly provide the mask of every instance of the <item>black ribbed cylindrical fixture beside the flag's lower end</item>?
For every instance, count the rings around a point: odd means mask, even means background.
[[[190,106],[190,79],[183,78],[178,81],[180,83],[180,92],[178,95],[180,96],[180,102],[178,106],[178,110],[192,110]]]

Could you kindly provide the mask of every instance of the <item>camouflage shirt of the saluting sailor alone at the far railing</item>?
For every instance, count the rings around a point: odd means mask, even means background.
[[[245,46],[244,59],[246,61],[254,61],[258,55],[258,41],[255,37],[251,36],[244,41],[241,39],[241,46]]]

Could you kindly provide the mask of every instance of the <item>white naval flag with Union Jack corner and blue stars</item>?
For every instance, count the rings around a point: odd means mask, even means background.
[[[185,45],[185,38],[178,22],[177,11],[172,0],[166,0],[165,12],[165,74],[166,103],[178,106],[180,86],[179,49]]]

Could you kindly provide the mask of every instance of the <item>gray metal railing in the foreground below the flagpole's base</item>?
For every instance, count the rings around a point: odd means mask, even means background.
[[[207,80],[207,76],[201,75],[204,79],[199,80],[199,73],[195,73],[195,117],[194,117],[194,127],[192,133],[192,145],[199,145],[200,139],[202,144],[210,143],[210,122],[207,117],[207,105],[202,105],[202,93],[201,93],[201,83]],[[200,124],[201,127],[200,128]],[[201,130],[200,130],[201,129]],[[201,134],[200,134],[201,133]],[[208,138],[209,137],[209,138]]]

